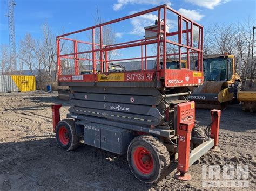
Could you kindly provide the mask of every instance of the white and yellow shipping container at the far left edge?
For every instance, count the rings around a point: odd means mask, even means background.
[[[0,92],[35,91],[35,76],[1,75]]]

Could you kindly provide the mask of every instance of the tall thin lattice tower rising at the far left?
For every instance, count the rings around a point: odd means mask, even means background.
[[[14,0],[8,0],[8,27],[9,27],[9,48],[10,48],[10,70],[17,70],[16,63],[16,44],[15,44],[15,27],[14,27]]]

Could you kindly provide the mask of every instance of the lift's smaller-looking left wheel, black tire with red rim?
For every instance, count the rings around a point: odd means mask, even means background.
[[[56,139],[60,148],[66,151],[75,150],[80,145],[80,139],[76,135],[75,121],[64,119],[56,126]]]

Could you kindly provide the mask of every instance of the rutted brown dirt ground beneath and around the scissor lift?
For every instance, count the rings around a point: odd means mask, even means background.
[[[153,185],[138,181],[126,156],[82,144],[76,151],[61,150],[52,132],[51,104],[63,103],[57,94],[0,94],[0,190],[147,190],[202,188],[202,165],[248,165],[250,187],[255,190],[256,114],[231,105],[221,114],[219,147],[190,167],[192,180],[170,174]],[[63,103],[62,118],[68,112]],[[200,125],[210,123],[209,110],[197,110]],[[234,188],[232,188],[234,189]],[[241,188],[237,188],[241,190]]]

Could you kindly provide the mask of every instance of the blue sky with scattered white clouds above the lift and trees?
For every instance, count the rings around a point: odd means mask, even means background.
[[[0,0],[0,44],[8,44],[7,1]],[[187,17],[207,27],[211,23],[232,23],[238,19],[255,19],[255,0],[16,0],[16,46],[26,33],[40,36],[40,26],[48,22],[53,31],[71,32],[94,25],[93,15],[100,10],[105,21],[129,13],[169,4]],[[114,29],[118,41],[142,36],[141,25],[153,23],[154,17],[133,20]],[[60,33],[58,33],[60,34]],[[124,40],[125,39],[125,40]],[[138,39],[138,38],[137,38]]]

